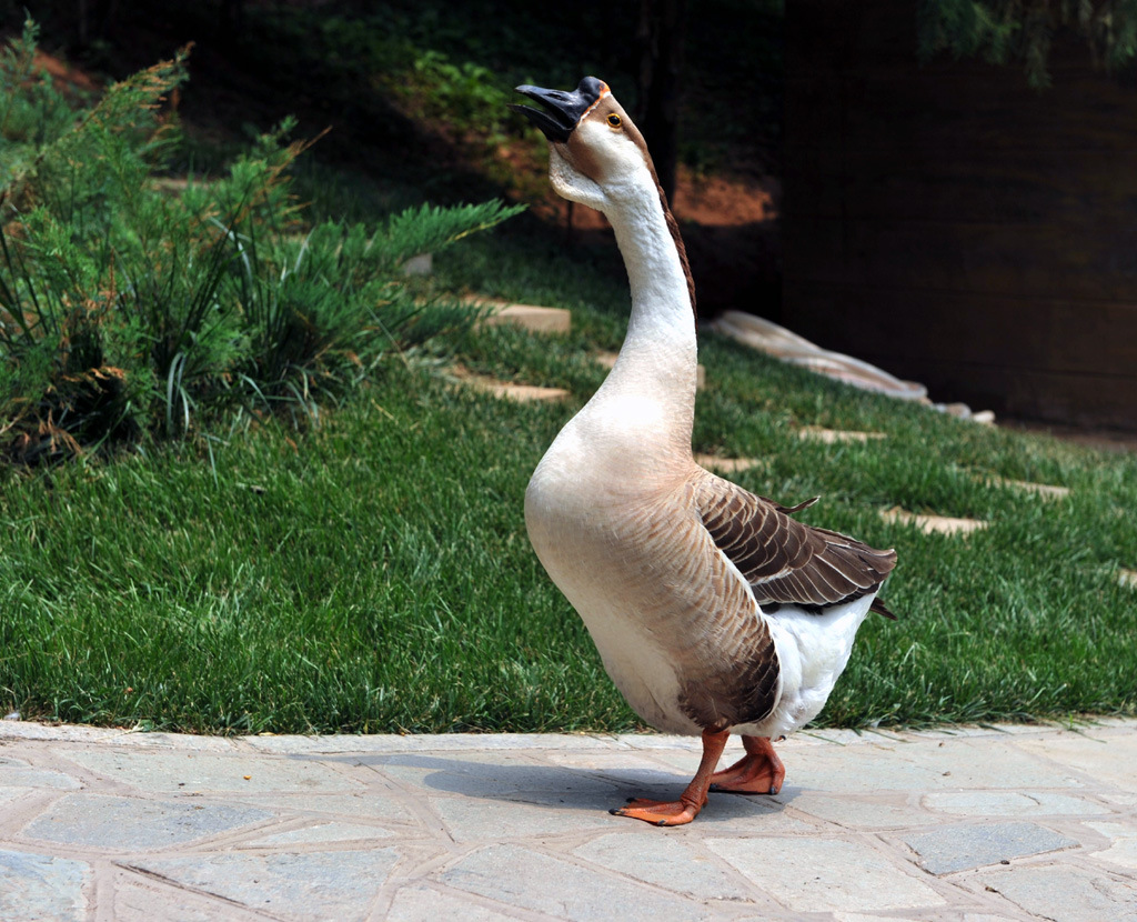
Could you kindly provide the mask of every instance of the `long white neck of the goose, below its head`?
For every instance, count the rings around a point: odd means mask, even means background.
[[[655,183],[626,192],[632,194],[605,214],[624,257],[632,310],[620,358],[597,398],[650,401],[661,441],[689,454],[698,358],[687,275]]]

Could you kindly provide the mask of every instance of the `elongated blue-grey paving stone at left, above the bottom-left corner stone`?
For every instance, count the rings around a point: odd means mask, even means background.
[[[267,811],[227,804],[69,794],[24,827],[22,834],[60,845],[159,849],[271,819]]]

